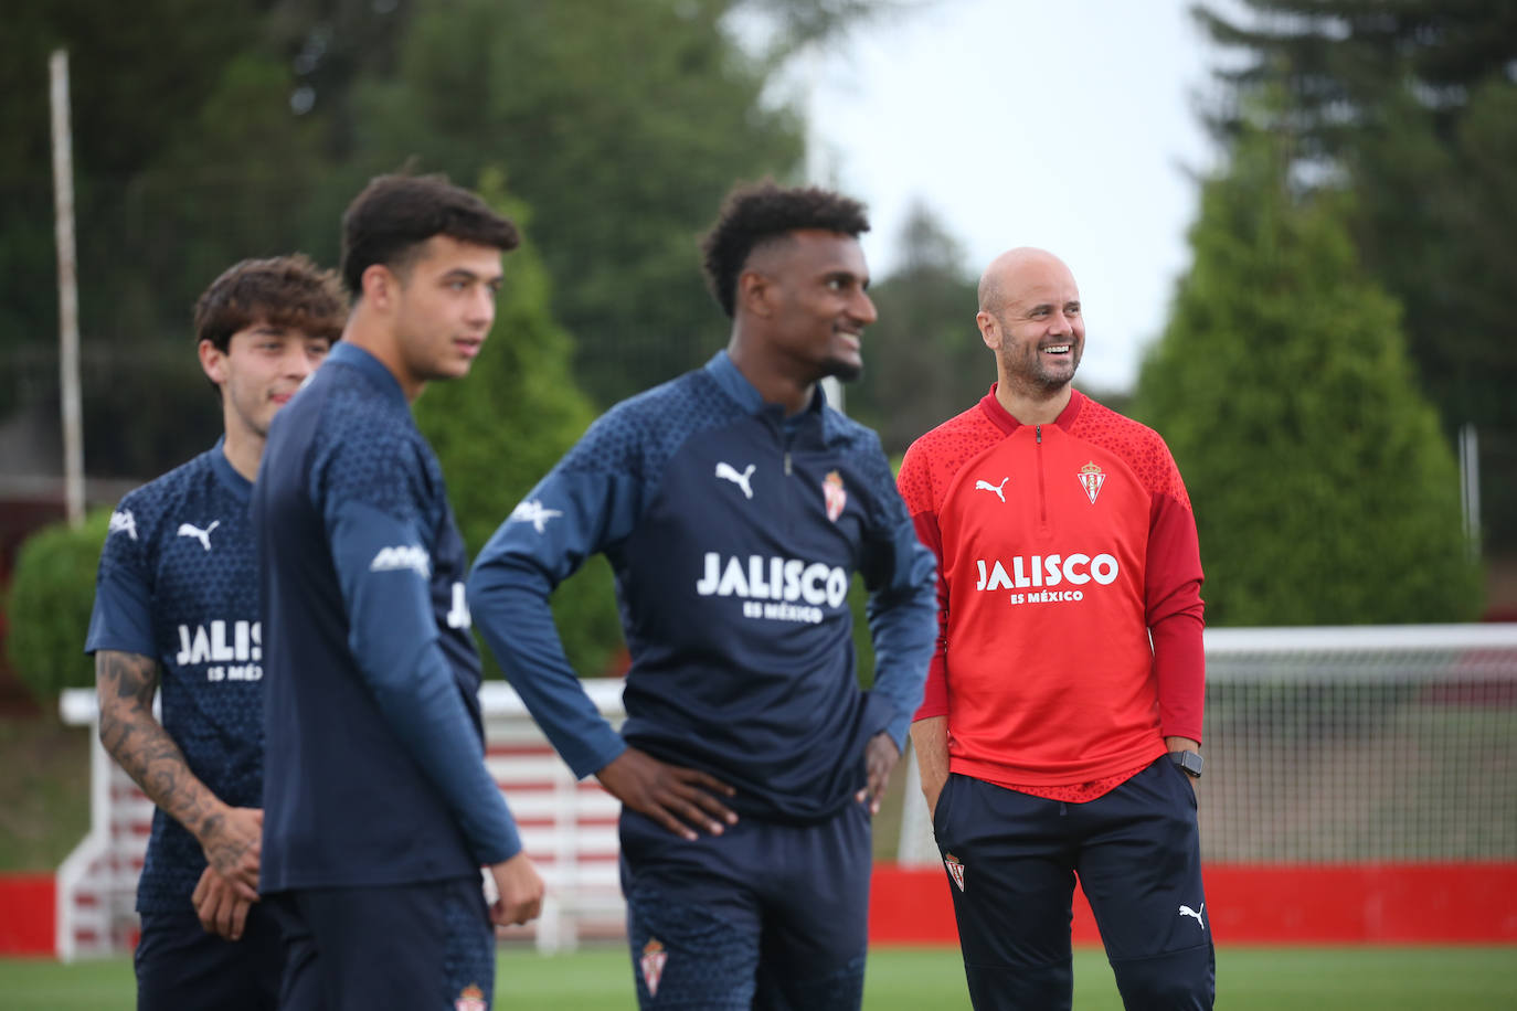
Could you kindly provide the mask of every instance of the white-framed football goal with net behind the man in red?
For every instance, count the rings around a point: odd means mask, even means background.
[[[1204,734],[1209,862],[1517,859],[1517,624],[1208,629]]]

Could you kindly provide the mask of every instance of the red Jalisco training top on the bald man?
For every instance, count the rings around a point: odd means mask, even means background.
[[[912,444],[900,485],[938,555],[916,718],[948,717],[951,772],[1091,800],[1165,737],[1201,740],[1201,561],[1157,432],[1079,391],[1022,424],[992,385]]]

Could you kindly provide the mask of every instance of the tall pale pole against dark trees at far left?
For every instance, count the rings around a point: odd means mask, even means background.
[[[58,385],[64,412],[64,508],[85,521],[85,440],[79,417],[79,270],[74,256],[74,153],[68,129],[68,50],[47,61],[53,108],[53,214],[58,236]]]

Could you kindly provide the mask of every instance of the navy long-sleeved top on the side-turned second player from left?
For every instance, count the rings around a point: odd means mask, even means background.
[[[261,890],[478,875],[516,855],[484,767],[463,538],[399,383],[347,343],[275,415],[253,487]]]

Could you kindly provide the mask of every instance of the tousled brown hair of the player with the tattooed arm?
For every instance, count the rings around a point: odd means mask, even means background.
[[[226,352],[232,335],[255,323],[305,330],[337,341],[347,299],[337,274],[303,253],[244,259],[221,271],[194,303],[194,338]]]

